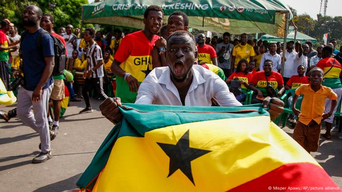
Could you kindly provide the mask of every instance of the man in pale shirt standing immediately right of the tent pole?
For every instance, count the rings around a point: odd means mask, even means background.
[[[296,58],[297,58],[297,52],[293,50],[294,41],[290,40],[286,44],[286,51],[280,53],[280,57],[282,58],[283,54],[285,53],[285,66],[284,66],[284,72],[283,72],[283,80],[284,85],[286,85],[287,81],[290,79],[291,76],[294,74],[295,64],[296,64]]]

